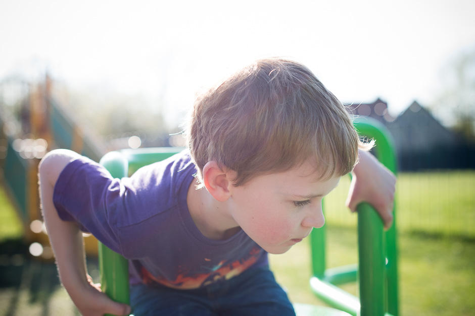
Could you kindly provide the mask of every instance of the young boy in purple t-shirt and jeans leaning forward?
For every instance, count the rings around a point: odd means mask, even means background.
[[[368,201],[391,225],[394,176],[298,62],[258,60],[198,97],[187,141],[121,180],[67,150],[41,161],[43,216],[82,314],[131,308],[87,276],[81,230],[129,259],[136,316],[293,315],[267,252],[286,252],[323,225],[321,200],[341,176],[353,172],[350,209]]]

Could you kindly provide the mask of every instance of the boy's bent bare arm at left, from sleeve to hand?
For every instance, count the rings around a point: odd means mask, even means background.
[[[100,285],[92,283],[85,267],[82,232],[76,223],[61,220],[53,203],[58,177],[77,155],[69,150],[55,150],[47,154],[39,165],[41,207],[59,276],[81,314],[128,315],[128,305],[112,301],[106,294],[100,293]]]

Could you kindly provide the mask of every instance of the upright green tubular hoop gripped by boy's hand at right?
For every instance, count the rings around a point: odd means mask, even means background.
[[[388,129],[379,121],[368,118],[355,120],[355,128],[361,136],[375,140],[375,156],[397,174],[394,143]],[[399,314],[396,205],[393,215],[393,225],[384,233],[383,223],[374,209],[368,204],[358,206],[359,278],[365,280],[359,282],[361,315],[384,314],[384,301],[387,301],[390,314]]]

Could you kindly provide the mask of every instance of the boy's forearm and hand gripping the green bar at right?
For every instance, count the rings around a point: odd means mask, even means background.
[[[346,205],[352,212],[361,202],[368,202],[383,219],[389,229],[393,223],[396,177],[368,152],[359,151],[359,162],[352,172],[350,191]]]

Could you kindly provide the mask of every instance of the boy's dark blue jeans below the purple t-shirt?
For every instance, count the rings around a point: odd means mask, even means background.
[[[130,304],[135,316],[295,316],[286,292],[268,268],[249,269],[193,290],[132,285]]]

